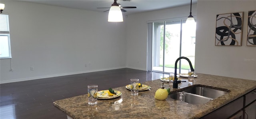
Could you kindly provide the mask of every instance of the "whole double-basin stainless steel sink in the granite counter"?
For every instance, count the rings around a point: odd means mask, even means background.
[[[206,85],[192,85],[169,95],[170,98],[191,104],[204,104],[230,92],[228,89]]]

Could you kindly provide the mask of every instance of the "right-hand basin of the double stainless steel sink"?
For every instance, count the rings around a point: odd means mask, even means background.
[[[205,97],[210,97],[210,98],[217,98],[220,97],[222,95],[225,95],[226,93],[228,93],[227,89],[223,89],[226,91],[222,91],[222,90],[218,90],[218,89],[212,89],[212,88],[208,88],[208,87],[201,87],[201,86],[194,86],[194,87],[190,87],[188,89],[185,89],[184,91],[187,93],[193,93],[196,95],[202,95]]]

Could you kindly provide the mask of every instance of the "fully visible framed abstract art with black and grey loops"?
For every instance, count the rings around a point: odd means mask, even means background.
[[[243,12],[218,14],[215,46],[242,45]]]

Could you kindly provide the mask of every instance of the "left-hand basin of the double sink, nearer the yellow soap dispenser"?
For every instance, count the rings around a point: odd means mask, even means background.
[[[191,104],[204,104],[212,100],[211,98],[208,98],[208,97],[195,95],[192,93],[185,93],[185,92],[173,93],[173,94],[170,94],[170,97],[172,99],[184,101],[186,103],[191,103]]]

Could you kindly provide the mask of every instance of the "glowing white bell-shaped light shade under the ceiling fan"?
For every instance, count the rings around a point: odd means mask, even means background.
[[[119,4],[116,3],[116,0],[114,0],[108,12],[108,22],[124,22],[122,11]]]

